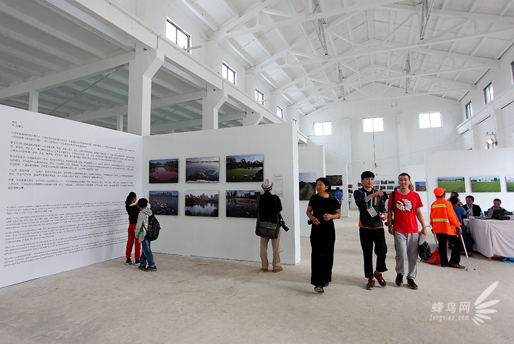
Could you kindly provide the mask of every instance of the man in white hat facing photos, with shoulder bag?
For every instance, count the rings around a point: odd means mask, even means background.
[[[277,214],[282,211],[282,203],[279,196],[271,193],[273,182],[266,179],[261,187],[264,194],[259,197],[258,216],[261,221],[277,223]],[[268,242],[269,238],[261,237],[262,271],[268,271]],[[273,272],[282,271],[280,266],[280,228],[279,236],[271,239],[271,248],[273,249]]]

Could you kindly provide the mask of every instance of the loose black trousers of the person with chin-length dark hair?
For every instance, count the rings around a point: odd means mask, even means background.
[[[334,222],[322,222],[312,226],[310,230],[310,284],[323,287],[332,281],[332,266],[334,265],[334,244],[336,230]]]

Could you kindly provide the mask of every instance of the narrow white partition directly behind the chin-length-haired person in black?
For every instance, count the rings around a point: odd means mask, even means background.
[[[298,146],[298,173],[316,173],[316,178],[325,176],[325,149],[323,146]],[[335,173],[334,173],[335,174]],[[300,180],[298,180],[300,182]],[[296,186],[300,188],[299,183]],[[307,225],[308,200],[300,200],[300,235],[310,236]]]

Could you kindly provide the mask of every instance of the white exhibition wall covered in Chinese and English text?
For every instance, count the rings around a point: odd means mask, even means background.
[[[124,255],[140,136],[0,105],[0,287]]]

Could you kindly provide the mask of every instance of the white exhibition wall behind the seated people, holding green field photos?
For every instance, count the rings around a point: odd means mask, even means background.
[[[492,207],[492,200],[500,198],[502,207],[514,210],[514,192],[507,192],[505,177],[514,175],[514,148],[498,148],[489,150],[465,150],[433,152],[426,155],[427,193],[430,206],[435,200],[432,190],[437,187],[438,177],[464,177],[466,192],[459,197],[464,203],[466,195],[473,195],[475,204],[482,210]],[[501,192],[472,192],[473,176],[499,176]],[[449,197],[449,195],[447,195]]]

